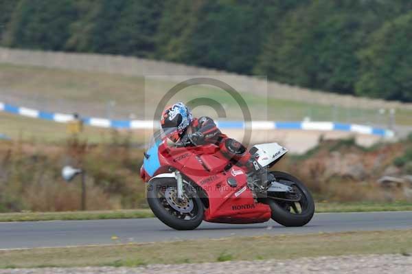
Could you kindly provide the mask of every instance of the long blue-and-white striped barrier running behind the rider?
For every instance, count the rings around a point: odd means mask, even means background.
[[[46,111],[38,111],[36,109],[28,109],[23,106],[13,106],[0,102],[0,111],[32,117],[38,119],[46,119],[59,123],[70,122],[74,119],[71,114],[49,113]],[[130,129],[150,129],[157,126],[153,121],[148,120],[111,120],[96,117],[82,117],[84,124],[89,126],[98,126],[101,128],[130,128]],[[251,127],[253,130],[272,130],[272,129],[288,129],[288,130],[339,130],[352,133],[378,135],[381,137],[393,137],[393,131],[384,128],[374,128],[372,126],[363,126],[358,124],[341,124],[334,122],[271,122],[271,121],[253,121],[251,124],[242,121],[218,121],[218,127],[229,129],[241,129]]]

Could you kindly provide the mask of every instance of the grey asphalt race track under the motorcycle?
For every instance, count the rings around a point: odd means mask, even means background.
[[[272,220],[253,225],[203,222],[194,231],[175,231],[155,218],[0,222],[0,249],[390,229],[412,229],[412,212],[315,214],[305,227],[293,228]]]

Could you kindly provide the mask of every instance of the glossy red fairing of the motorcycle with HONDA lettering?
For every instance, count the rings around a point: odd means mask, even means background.
[[[161,168],[153,176],[168,172],[169,168],[179,170],[203,190],[208,198],[205,220],[209,222],[253,223],[266,222],[271,218],[271,209],[263,203],[255,203],[243,168],[232,165],[214,144],[204,146],[172,148],[159,146]],[[141,172],[142,176],[142,172]],[[143,171],[142,179],[148,181]],[[236,181],[236,187],[228,183]]]

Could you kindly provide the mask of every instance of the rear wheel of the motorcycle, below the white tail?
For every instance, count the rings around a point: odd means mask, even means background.
[[[293,193],[268,193],[265,202],[271,207],[272,219],[285,227],[302,227],[306,225],[314,214],[314,201],[308,188],[294,176],[274,171],[271,172],[279,183],[293,187]]]

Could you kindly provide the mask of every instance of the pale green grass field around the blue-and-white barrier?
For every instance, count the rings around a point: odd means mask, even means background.
[[[153,119],[153,110],[160,98],[174,83],[160,80],[144,80],[108,73],[47,69],[43,67],[23,67],[0,64],[0,101],[9,103],[31,104],[47,111],[76,110],[80,114],[106,117],[107,103],[115,101],[110,110],[113,117],[128,119],[130,114],[137,119]],[[385,118],[374,110],[345,109],[321,104],[277,100],[269,96],[257,96],[242,93],[251,110],[252,119],[300,121],[310,116],[312,120],[356,122],[361,124],[383,123]],[[190,87],[178,93],[173,102],[185,102],[195,98],[211,98],[225,107],[228,119],[242,119],[242,113],[229,95],[206,86]],[[12,102],[10,102],[12,101]],[[64,106],[64,107],[62,107]],[[69,111],[66,111],[69,112]],[[70,111],[71,112],[71,111]],[[205,106],[194,109],[195,115],[216,116],[214,111]],[[397,124],[412,124],[412,111],[398,110]],[[23,139],[41,138],[56,141],[65,137],[65,126],[53,122],[40,121],[0,113],[0,133]],[[108,130],[87,129],[84,136],[93,141],[101,139]]]

